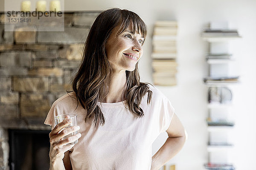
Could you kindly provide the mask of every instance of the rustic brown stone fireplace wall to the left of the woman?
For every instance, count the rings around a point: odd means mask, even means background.
[[[5,31],[9,23],[0,14],[0,170],[13,166],[10,130],[50,130],[44,119],[52,103],[72,90],[71,78],[99,12],[65,12],[64,31],[37,31],[29,24]]]

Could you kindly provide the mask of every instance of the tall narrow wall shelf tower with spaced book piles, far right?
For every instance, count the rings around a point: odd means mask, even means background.
[[[239,76],[232,74],[230,63],[234,61],[228,50],[228,41],[240,38],[236,29],[229,29],[227,22],[212,22],[210,28],[202,32],[204,40],[209,42],[209,53],[206,61],[209,65],[208,77],[204,83],[208,87],[209,131],[208,163],[204,167],[209,170],[235,170],[230,160],[229,150],[233,148],[230,130],[235,122],[230,119],[229,107],[233,93],[229,85],[239,82]],[[222,107],[225,106],[225,107]]]

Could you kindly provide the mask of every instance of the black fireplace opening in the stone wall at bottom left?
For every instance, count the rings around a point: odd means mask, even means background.
[[[49,130],[8,131],[10,170],[49,170]]]

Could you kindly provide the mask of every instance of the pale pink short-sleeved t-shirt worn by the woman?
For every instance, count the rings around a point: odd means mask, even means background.
[[[98,102],[105,116],[105,125],[94,127],[93,119],[84,122],[86,111],[81,105],[76,108],[75,94],[70,93],[57,99],[50,109],[45,124],[55,126],[54,116],[62,113],[76,113],[79,142],[70,150],[73,170],[150,170],[151,148],[157,136],[166,131],[174,115],[169,99],[157,88],[149,85],[153,92],[147,105],[145,94],[140,107],[142,118],[130,113],[127,102]],[[125,106],[124,106],[125,105]],[[76,110],[75,110],[76,109]]]

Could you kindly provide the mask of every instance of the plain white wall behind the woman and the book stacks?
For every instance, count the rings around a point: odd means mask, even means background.
[[[18,5],[18,4],[17,4]],[[127,8],[140,15],[148,26],[144,57],[140,61],[143,82],[151,78],[151,36],[155,20],[177,20],[177,86],[158,87],[172,102],[188,132],[188,140],[169,164],[177,170],[203,170],[207,162],[207,87],[202,78],[207,75],[204,56],[207,42],[200,37],[210,21],[228,21],[243,37],[232,42],[232,53],[239,63],[241,84],[233,86],[233,111],[236,117],[233,150],[237,170],[255,170],[256,160],[256,1],[255,0],[65,0],[65,10],[104,10]],[[3,1],[0,2],[3,11]],[[165,142],[162,134],[154,142],[155,153]]]

